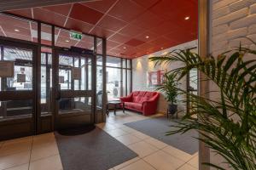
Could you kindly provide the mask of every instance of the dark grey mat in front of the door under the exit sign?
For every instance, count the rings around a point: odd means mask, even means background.
[[[137,154],[96,127],[90,133],[63,136],[55,133],[64,170],[108,170]]]

